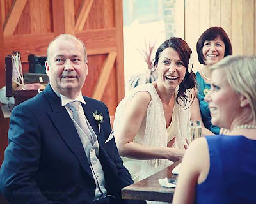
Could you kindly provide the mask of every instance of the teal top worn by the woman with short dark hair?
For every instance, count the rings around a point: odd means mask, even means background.
[[[207,94],[207,91],[211,89],[211,85],[205,83],[204,78],[202,78],[199,72],[196,72],[196,82],[198,85],[198,101],[200,106],[200,113],[204,122],[204,126],[205,128],[212,131],[212,133],[218,135],[220,132],[220,128],[218,126],[212,125],[208,103],[204,100],[204,96],[205,94]]]

